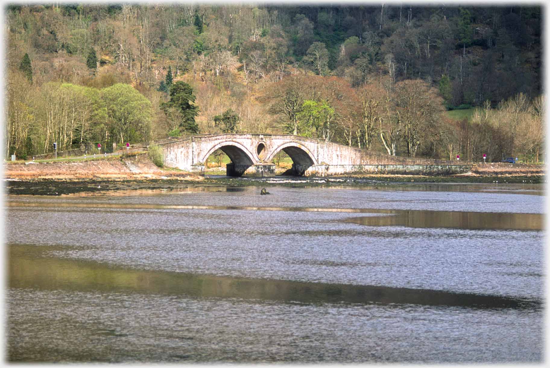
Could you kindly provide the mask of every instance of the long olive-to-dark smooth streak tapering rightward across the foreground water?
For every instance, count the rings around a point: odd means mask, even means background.
[[[420,304],[480,308],[532,308],[540,301],[442,290],[219,277],[181,272],[140,271],[96,262],[43,257],[52,247],[9,246],[13,288],[161,293],[206,298],[279,300],[299,303]],[[63,251],[63,247],[54,247]],[[69,248],[69,247],[65,247]]]

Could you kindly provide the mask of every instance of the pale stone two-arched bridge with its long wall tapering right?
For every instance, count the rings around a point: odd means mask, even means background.
[[[162,146],[164,164],[189,172],[204,172],[206,161],[217,149],[229,156],[228,176],[251,174],[271,177],[273,157],[280,151],[292,158],[293,175],[368,173],[461,173],[473,163],[426,160],[384,155],[324,139],[287,134],[216,134],[172,138],[149,145]]]

